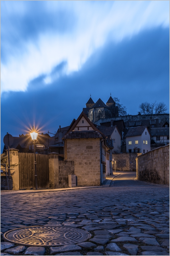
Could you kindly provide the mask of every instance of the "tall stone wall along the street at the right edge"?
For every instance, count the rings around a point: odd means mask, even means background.
[[[169,184],[169,145],[138,156],[136,166],[138,180]]]

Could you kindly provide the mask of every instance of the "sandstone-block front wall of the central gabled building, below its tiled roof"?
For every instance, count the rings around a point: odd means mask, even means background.
[[[65,143],[66,145],[66,143]],[[100,186],[100,139],[67,139],[67,160],[81,186]]]

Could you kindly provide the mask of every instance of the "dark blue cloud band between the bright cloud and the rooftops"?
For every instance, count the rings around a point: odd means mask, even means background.
[[[60,74],[66,62],[51,71]],[[106,102],[118,97],[129,114],[136,114],[141,102],[169,102],[169,29],[145,30],[119,44],[108,43],[96,51],[81,70],[61,75],[46,85],[42,74],[25,92],[2,94],[1,151],[6,132],[18,136],[23,123],[46,124],[42,132],[54,132],[77,118],[89,99]]]

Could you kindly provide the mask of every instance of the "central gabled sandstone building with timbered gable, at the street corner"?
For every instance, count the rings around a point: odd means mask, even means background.
[[[90,103],[89,103],[90,104]],[[80,186],[99,186],[112,174],[112,146],[106,136],[82,112],[63,137],[64,159],[74,161],[74,174]]]

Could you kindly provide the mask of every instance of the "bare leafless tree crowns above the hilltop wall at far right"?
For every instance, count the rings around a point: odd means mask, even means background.
[[[149,102],[143,102],[139,105],[139,112],[138,114],[163,114],[166,113],[168,110],[167,106],[165,105],[164,102],[159,102],[156,103],[156,101],[154,101],[153,103],[149,103]]]

